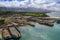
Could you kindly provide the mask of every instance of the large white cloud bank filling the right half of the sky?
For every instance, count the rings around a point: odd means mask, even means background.
[[[53,11],[60,11],[60,4],[56,0],[35,0],[30,4],[31,7],[42,8]]]

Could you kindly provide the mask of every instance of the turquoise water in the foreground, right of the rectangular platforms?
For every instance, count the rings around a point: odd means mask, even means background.
[[[20,40],[60,40],[60,24],[55,23],[53,27],[34,23],[35,27],[19,27],[22,37]]]

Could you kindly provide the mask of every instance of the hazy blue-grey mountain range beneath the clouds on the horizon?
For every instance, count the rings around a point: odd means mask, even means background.
[[[0,11],[19,11],[19,12],[50,12],[50,10],[46,9],[38,9],[38,8],[13,8],[13,7],[0,7]]]

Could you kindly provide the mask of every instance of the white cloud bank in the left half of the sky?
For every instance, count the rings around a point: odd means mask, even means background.
[[[22,1],[22,2],[18,2],[18,1],[11,1],[11,2],[0,2],[0,6],[4,6],[4,7],[25,7],[26,6],[26,2],[27,0],[25,1]]]

